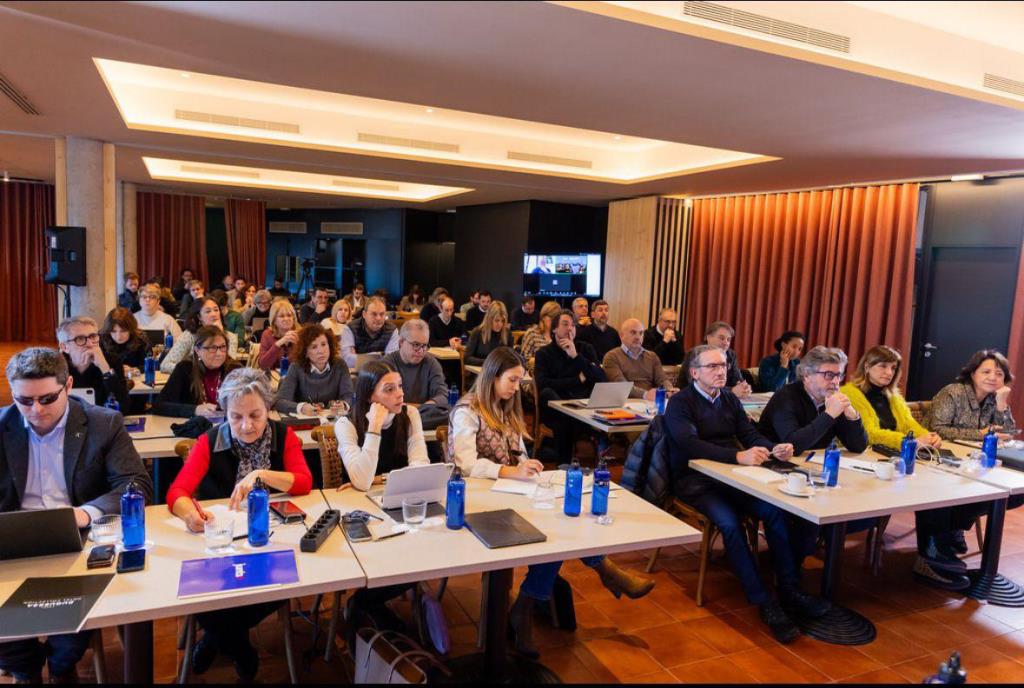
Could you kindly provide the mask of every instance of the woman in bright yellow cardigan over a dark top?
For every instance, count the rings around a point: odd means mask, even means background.
[[[860,414],[867,431],[867,441],[898,449],[908,431],[918,442],[938,447],[942,438],[929,432],[910,415],[906,400],[899,393],[899,369],[903,357],[891,346],[876,346],[867,350],[857,363],[853,379],[841,392]]]

